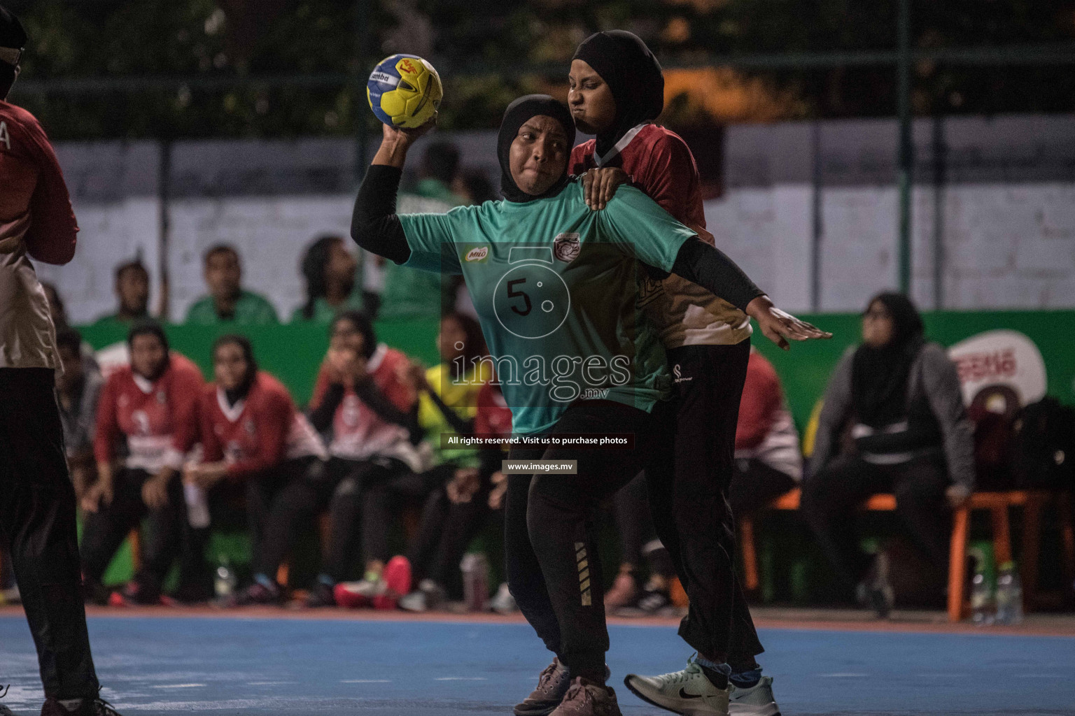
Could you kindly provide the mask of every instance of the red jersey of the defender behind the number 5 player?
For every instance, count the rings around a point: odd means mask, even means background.
[[[633,186],[703,242],[714,245],[713,234],[705,229],[698,165],[678,134],[644,123],[628,131],[604,157],[594,157],[596,148],[597,140],[590,140],[572,149],[570,173],[619,166],[630,175]],[[746,313],[678,276],[648,286],[643,295],[648,301],[646,316],[665,348],[734,345],[750,336]]]

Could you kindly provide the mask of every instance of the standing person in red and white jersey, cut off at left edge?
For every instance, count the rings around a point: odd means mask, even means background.
[[[54,392],[55,327],[30,261],[71,261],[78,227],[45,131],[6,102],[27,40],[0,8],[0,549],[11,552],[38,648],[42,716],[118,716],[98,698]]]

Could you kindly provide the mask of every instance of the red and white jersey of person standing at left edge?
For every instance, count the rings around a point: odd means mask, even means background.
[[[0,101],[0,368],[56,368],[48,301],[29,259],[74,255],[74,211],[45,131]]]

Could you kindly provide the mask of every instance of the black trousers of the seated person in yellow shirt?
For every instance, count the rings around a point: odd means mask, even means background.
[[[446,470],[442,469],[445,467]],[[407,550],[407,559],[411,560],[415,582],[432,580],[458,597],[459,562],[489,514],[491,473],[482,473],[482,487],[469,502],[456,503],[448,499],[444,488],[444,482],[452,479],[456,468],[441,466],[433,469],[442,470],[443,481],[426,499],[418,535]]]

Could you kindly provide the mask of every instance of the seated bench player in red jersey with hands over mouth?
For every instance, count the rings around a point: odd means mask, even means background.
[[[364,313],[345,311],[332,322],[310,412],[314,427],[331,434],[329,462],[314,479],[285,488],[269,517],[262,562],[262,571],[274,574],[299,530],[330,508],[328,555],[307,599],[311,607],[334,604],[334,586],[352,575],[363,489],[426,467],[413,439],[415,394],[402,377],[408,364],[399,351],[377,344]],[[382,588],[386,536],[363,528],[362,539],[367,572]]]

